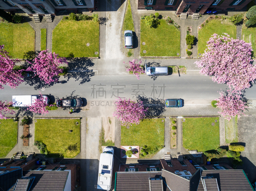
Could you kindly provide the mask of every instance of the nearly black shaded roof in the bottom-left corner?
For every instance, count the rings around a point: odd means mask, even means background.
[[[0,175],[0,190],[7,191],[22,176],[22,169],[17,169]]]

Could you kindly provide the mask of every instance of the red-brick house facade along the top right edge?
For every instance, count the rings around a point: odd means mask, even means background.
[[[204,14],[206,11],[240,11],[251,0],[138,0],[138,9],[170,10],[181,13]]]

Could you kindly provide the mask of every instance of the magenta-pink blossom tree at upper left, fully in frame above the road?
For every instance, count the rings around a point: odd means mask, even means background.
[[[60,57],[54,52],[47,52],[43,50],[33,60],[31,67],[28,67],[27,71],[35,72],[36,76],[42,79],[46,84],[56,82],[58,79],[54,77],[63,72],[63,69],[58,68],[60,64],[68,64],[67,59]]]

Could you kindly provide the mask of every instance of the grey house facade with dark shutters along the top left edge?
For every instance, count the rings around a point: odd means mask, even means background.
[[[95,10],[94,0],[0,0],[0,9],[12,13],[56,15],[57,11]]]

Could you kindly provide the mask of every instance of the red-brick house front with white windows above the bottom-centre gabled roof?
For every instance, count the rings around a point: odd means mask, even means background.
[[[196,172],[196,168],[188,161],[188,159],[183,160],[183,162],[187,165],[187,166],[182,166],[180,164],[180,161],[178,161],[177,159],[172,159],[171,163],[172,163],[172,167],[168,166],[168,164],[166,163],[166,161],[164,159],[160,159],[160,165],[164,170],[167,170],[171,173],[175,173],[176,170],[178,171],[189,171],[191,174],[194,174]]]

